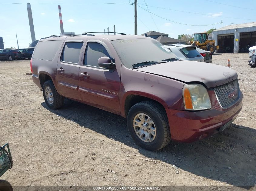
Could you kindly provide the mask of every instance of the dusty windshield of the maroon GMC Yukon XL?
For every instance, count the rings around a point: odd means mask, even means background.
[[[164,45],[155,39],[122,39],[111,41],[122,63],[127,68],[135,68],[136,64],[148,61],[162,61],[176,58]]]

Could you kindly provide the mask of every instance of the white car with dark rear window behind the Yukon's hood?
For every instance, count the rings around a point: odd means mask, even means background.
[[[204,57],[198,53],[195,46],[186,44],[164,44],[181,60],[204,62]]]

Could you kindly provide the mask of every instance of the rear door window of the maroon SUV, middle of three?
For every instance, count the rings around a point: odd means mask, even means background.
[[[62,52],[62,61],[78,64],[82,46],[83,46],[82,42],[66,43]]]

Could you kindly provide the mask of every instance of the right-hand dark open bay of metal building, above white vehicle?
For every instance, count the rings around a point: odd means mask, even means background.
[[[256,32],[240,33],[239,53],[248,53],[251,46],[256,45]]]

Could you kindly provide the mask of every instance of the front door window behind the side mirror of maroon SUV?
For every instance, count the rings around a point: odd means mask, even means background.
[[[86,48],[84,65],[97,66],[100,57],[110,57],[108,51],[100,43],[89,42]]]

